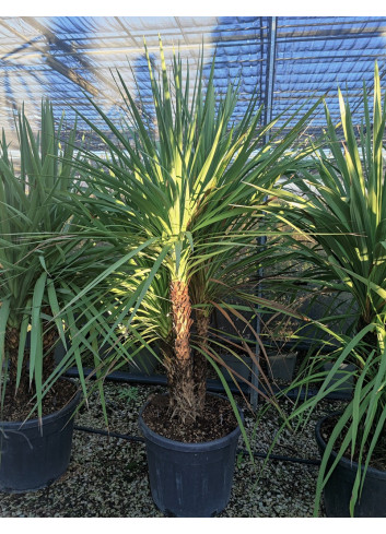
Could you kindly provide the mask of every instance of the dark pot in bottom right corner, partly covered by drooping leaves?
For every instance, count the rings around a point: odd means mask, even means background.
[[[315,429],[316,441],[321,455],[326,450],[326,442],[321,437],[320,429],[325,420],[329,417],[331,416],[326,416],[320,419]],[[336,456],[336,453],[332,452],[329,460],[329,465],[332,464]],[[338,462],[324,489],[324,501],[327,517],[350,517],[350,498],[356,470],[358,463],[351,463],[351,461],[347,460],[346,458],[342,458]],[[354,508],[354,517],[386,518],[386,471],[379,471],[373,467],[367,468],[361,498],[358,500]]]

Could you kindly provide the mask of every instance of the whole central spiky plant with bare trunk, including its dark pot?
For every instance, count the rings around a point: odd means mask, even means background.
[[[265,192],[256,192],[250,183],[269,189],[306,153],[294,154],[290,147],[314,108],[289,133],[283,133],[284,124],[264,144],[276,121],[259,126],[257,94],[236,121],[237,85],[217,94],[214,61],[204,83],[201,60],[190,86],[182,59],[174,56],[168,74],[161,43],[160,50],[160,81],[147,51],[153,109],[143,115],[138,102],[144,95],[134,97],[118,73],[127,105],[125,130],[92,100],[108,132],[81,116],[104,140],[108,155],[85,154],[90,163],[83,161],[80,169],[90,176],[90,192],[79,201],[121,250],[113,274],[112,341],[117,342],[117,328],[124,329],[120,341],[127,352],[130,344],[148,346],[152,340],[167,373],[168,394],[150,400],[139,419],[153,499],[168,514],[209,517],[229,501],[244,430],[219,368],[224,343],[209,336],[211,312],[217,308],[231,322],[241,317],[224,300],[231,293],[270,305],[248,289],[256,286],[254,275],[269,257],[256,245],[265,232]],[[116,347],[106,363],[109,368],[114,358],[121,365],[122,348],[119,343]],[[208,363],[230,400],[207,394]]]

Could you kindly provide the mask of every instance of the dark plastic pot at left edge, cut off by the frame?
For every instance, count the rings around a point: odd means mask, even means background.
[[[0,491],[40,489],[66,472],[71,455],[71,415],[80,397],[79,392],[62,410],[44,416],[43,427],[37,419],[23,425],[0,422]]]

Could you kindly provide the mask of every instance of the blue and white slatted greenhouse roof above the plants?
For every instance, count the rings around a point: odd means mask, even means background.
[[[0,19],[0,115],[13,131],[14,110],[24,103],[37,120],[40,99],[51,98],[70,123],[79,110],[93,121],[93,97],[109,117],[121,114],[112,70],[118,69],[136,97],[136,73],[144,104],[150,80],[143,37],[156,64],[159,34],[165,54],[179,49],[195,69],[201,47],[206,69],[215,54],[215,85],[221,92],[241,75],[236,115],[243,114],[256,86],[265,120],[294,104],[327,95],[339,119],[338,84],[353,108],[361,106],[363,82],[372,87],[374,61],[385,71],[386,17],[364,16],[3,16]],[[131,67],[130,67],[131,66]],[[361,116],[356,116],[360,122]],[[324,110],[309,130],[324,126]]]

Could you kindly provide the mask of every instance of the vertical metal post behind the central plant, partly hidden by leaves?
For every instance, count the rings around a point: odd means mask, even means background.
[[[267,51],[267,79],[266,79],[266,92],[265,92],[265,112],[264,112],[264,123],[268,124],[272,120],[272,103],[273,103],[273,85],[274,85],[274,67],[276,67],[276,50],[277,50],[277,26],[278,26],[278,17],[270,16],[269,19],[269,27],[268,27],[268,51]],[[270,132],[267,131],[265,135],[265,143],[268,144],[270,139]],[[258,239],[259,247],[264,247],[267,242],[267,237],[261,236]],[[259,268],[258,271],[259,280],[262,280],[264,270]],[[262,287],[261,283],[258,284],[257,296],[262,296]],[[256,333],[260,335],[261,331],[261,321],[260,316],[256,317]],[[260,358],[260,346],[256,342],[256,358],[259,360]],[[259,385],[259,377],[258,377],[258,367],[253,365],[253,377],[252,383],[255,388]],[[258,403],[258,393],[255,388],[250,388],[250,404],[254,410],[257,408]]]

